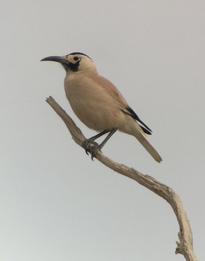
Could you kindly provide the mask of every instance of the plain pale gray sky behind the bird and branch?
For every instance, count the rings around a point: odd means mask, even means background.
[[[203,260],[204,12],[189,0],[1,2],[0,260],[185,260],[170,205],[92,162],[45,102],[95,135],[65,98],[62,66],[40,62],[70,52],[90,56],[152,129],[160,164],[119,132],[103,153],[179,195]]]

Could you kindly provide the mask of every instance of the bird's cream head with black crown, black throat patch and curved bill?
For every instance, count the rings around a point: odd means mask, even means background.
[[[93,60],[81,52],[73,52],[65,56],[49,56],[43,58],[41,61],[59,62],[69,74],[84,71],[92,67],[95,68]]]

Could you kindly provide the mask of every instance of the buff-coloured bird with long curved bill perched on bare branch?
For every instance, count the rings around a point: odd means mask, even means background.
[[[81,52],[65,56],[49,56],[41,61],[55,61],[66,71],[64,89],[66,97],[76,116],[97,135],[82,142],[91,158],[103,148],[107,140],[117,131],[134,136],[157,162],[162,158],[147,140],[151,129],[144,124],[126,102],[117,87],[100,76],[93,60]],[[95,140],[108,133],[101,144]]]

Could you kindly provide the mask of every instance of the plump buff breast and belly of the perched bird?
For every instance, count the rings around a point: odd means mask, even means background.
[[[96,131],[119,127],[123,112],[104,88],[89,77],[66,77],[65,94],[76,116]]]

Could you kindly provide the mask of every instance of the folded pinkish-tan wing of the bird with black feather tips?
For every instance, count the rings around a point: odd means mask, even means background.
[[[122,96],[122,93],[119,92],[119,90],[114,86],[114,84],[111,81],[107,80],[105,77],[100,76],[98,74],[90,75],[89,77],[91,77],[94,81],[100,84],[103,87],[103,89],[107,93],[109,93],[122,106],[123,112],[130,115],[132,118],[140,122],[145,127],[144,128],[140,125],[144,133],[152,134],[150,128],[146,124],[144,124],[137,116],[137,114],[130,108],[125,98]]]

